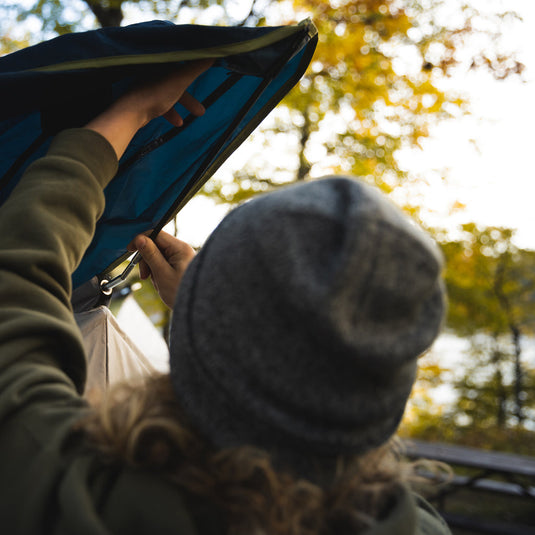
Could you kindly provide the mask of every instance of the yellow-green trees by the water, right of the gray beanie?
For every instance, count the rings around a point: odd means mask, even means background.
[[[438,235],[446,259],[447,328],[468,342],[462,366],[431,358],[422,367],[413,428],[421,438],[533,455],[535,366],[524,348],[535,331],[535,251],[514,231],[462,226],[458,239]],[[433,407],[429,390],[455,390],[448,407]]]

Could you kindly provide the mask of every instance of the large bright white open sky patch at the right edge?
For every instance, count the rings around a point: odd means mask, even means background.
[[[468,94],[472,115],[445,122],[404,163],[431,177],[424,204],[436,212],[437,225],[474,220],[487,226],[516,228],[517,243],[535,249],[535,173],[532,167],[535,124],[535,2],[508,1],[522,22],[505,25],[507,45],[526,65],[523,80],[496,81],[484,73],[456,76],[452,88]],[[432,179],[434,169],[447,168],[448,180]],[[466,209],[448,216],[454,201]]]

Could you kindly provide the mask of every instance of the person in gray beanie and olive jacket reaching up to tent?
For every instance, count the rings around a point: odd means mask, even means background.
[[[391,445],[444,313],[436,245],[332,177],[232,211],[195,255],[138,236],[170,374],[81,397],[70,275],[135,132],[208,61],[64,131],[0,211],[0,525],[10,534],[445,534]],[[178,291],[178,293],[177,293]],[[175,299],[176,296],[176,299]]]

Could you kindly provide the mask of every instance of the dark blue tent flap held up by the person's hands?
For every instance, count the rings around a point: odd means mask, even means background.
[[[0,209],[26,167],[64,128],[83,126],[139,80],[183,61],[216,58],[189,92],[207,111],[184,126],[142,128],[106,188],[106,210],[73,275],[102,278],[138,233],[161,229],[256,128],[308,66],[309,21],[282,27],[152,21],[68,34],[0,58]]]

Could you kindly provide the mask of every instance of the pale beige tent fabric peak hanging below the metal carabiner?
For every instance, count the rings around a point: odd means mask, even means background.
[[[74,317],[82,332],[87,356],[86,395],[104,392],[118,381],[156,371],[106,306],[76,313]]]

